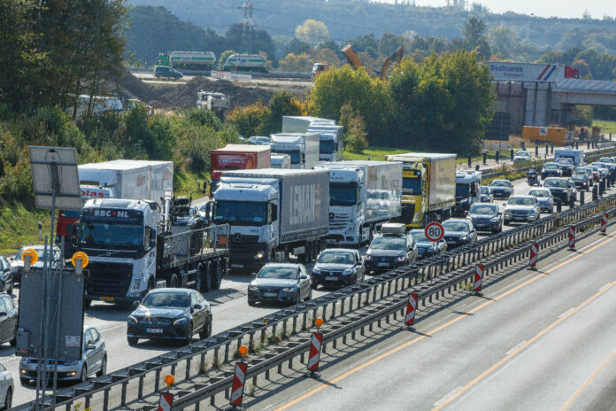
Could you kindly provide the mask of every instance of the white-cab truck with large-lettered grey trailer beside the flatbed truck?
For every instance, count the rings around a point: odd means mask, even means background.
[[[325,246],[328,210],[326,170],[224,171],[212,221],[230,226],[230,268],[258,271],[289,254],[314,260]]]

